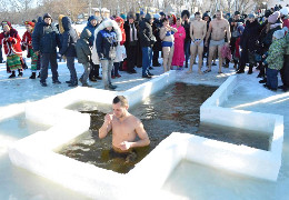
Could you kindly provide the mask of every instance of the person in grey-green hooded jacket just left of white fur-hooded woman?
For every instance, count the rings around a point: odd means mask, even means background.
[[[82,87],[91,87],[88,84],[88,77],[90,72],[90,60],[91,60],[91,47],[89,46],[89,38],[91,32],[86,29],[81,32],[80,39],[77,41],[76,49],[78,56],[78,62],[82,63],[84,72],[80,77],[79,81],[82,83]]]

